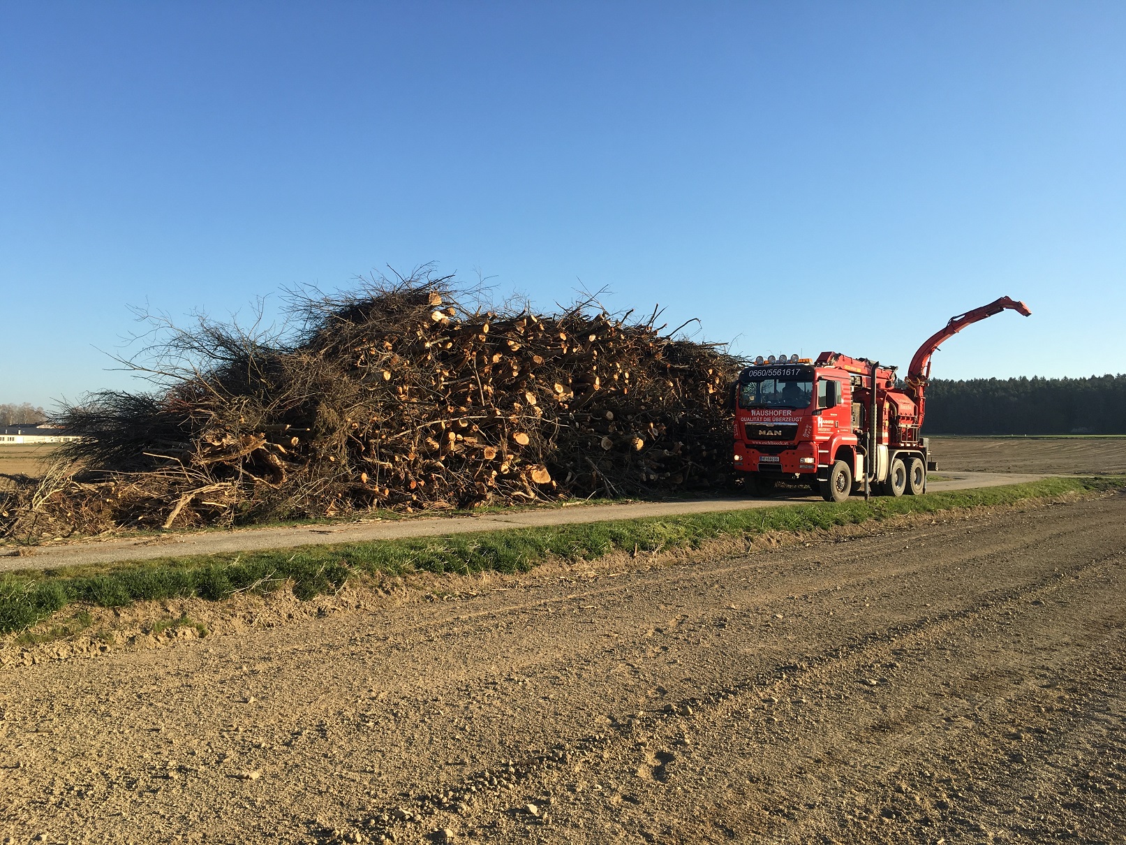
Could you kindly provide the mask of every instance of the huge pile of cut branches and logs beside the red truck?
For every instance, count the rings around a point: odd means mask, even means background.
[[[84,470],[25,490],[7,533],[232,525],[727,483],[740,363],[592,302],[463,308],[448,278],[303,299],[289,343],[202,320],[55,424]],[[170,364],[169,362],[175,362]],[[35,527],[33,527],[35,526]]]

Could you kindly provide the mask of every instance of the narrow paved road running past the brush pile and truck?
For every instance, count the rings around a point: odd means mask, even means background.
[[[1008,474],[998,472],[951,472],[946,481],[932,481],[931,491],[964,490],[972,487],[1019,484],[1044,478],[1043,474]],[[83,563],[110,563],[122,560],[153,560],[169,555],[217,554],[261,549],[287,549],[322,543],[348,543],[367,540],[394,540],[438,534],[463,534],[531,525],[596,523],[610,519],[699,514],[716,510],[742,510],[774,505],[820,501],[816,496],[774,496],[765,499],[722,498],[687,501],[632,502],[626,505],[575,505],[542,510],[512,510],[465,516],[437,516],[394,522],[341,523],[282,528],[240,528],[226,532],[169,533],[163,536],[107,540],[66,545],[36,546],[32,554],[0,558],[0,571],[12,569],[48,569]],[[3,550],[5,546],[0,546]],[[25,550],[26,551],[26,550]]]

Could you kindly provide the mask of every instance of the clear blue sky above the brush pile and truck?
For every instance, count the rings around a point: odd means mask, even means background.
[[[1126,372],[1126,3],[5,2],[0,402],[128,304],[580,284],[748,354]]]

